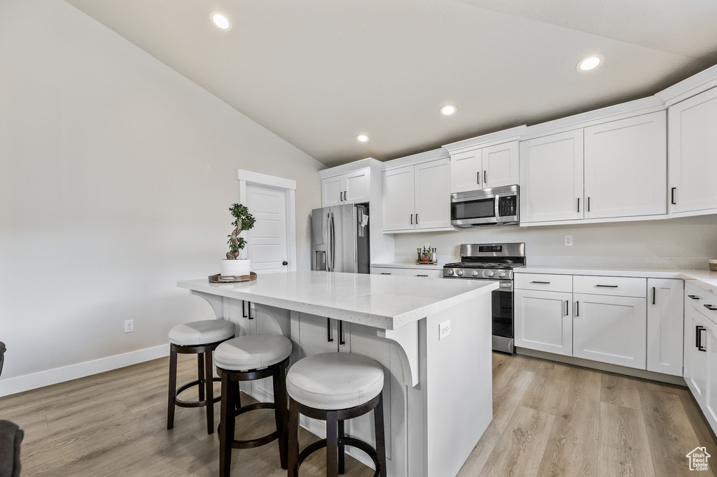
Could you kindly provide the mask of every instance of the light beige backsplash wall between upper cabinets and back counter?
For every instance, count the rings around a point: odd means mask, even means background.
[[[564,245],[564,236],[573,245]],[[441,262],[460,259],[460,244],[525,242],[528,265],[708,269],[717,258],[717,216],[541,227],[467,228],[395,234],[396,261],[414,261],[429,242]]]

